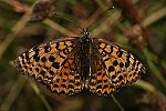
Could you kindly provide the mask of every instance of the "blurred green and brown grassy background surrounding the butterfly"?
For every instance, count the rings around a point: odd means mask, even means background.
[[[95,21],[91,36],[129,50],[146,74],[114,93],[117,101],[89,91],[56,95],[22,75],[11,64],[17,56],[41,42],[80,36],[80,28],[52,12],[83,28]],[[166,111],[165,94],[165,0],[0,0],[0,111],[121,111],[116,102],[126,111]]]

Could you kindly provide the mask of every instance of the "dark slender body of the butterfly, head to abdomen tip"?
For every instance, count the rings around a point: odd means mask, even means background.
[[[90,46],[91,46],[91,39],[90,39],[90,32],[87,30],[82,31],[82,38],[80,40],[81,42],[81,79],[85,83],[89,79],[90,73]]]

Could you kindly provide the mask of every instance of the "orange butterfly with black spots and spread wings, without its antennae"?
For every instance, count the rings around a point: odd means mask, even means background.
[[[87,29],[81,34],[35,46],[13,64],[50,91],[68,95],[83,89],[110,95],[145,73],[145,67],[122,47],[90,37]]]

